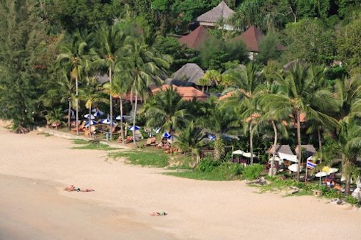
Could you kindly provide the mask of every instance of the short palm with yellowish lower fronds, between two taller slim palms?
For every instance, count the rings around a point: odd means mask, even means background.
[[[91,116],[92,116],[92,107],[93,104],[98,102],[108,102],[103,93],[103,87],[101,84],[98,83],[98,81],[95,79],[95,77],[90,77],[89,81],[86,82],[86,84],[83,86],[82,89],[80,89],[80,99],[85,101],[85,107],[89,109],[89,137],[91,137]],[[110,119],[110,121],[113,121],[113,119]]]

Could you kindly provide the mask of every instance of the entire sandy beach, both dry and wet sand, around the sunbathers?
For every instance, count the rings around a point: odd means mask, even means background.
[[[361,210],[162,175],[1,126],[0,239],[361,239]]]

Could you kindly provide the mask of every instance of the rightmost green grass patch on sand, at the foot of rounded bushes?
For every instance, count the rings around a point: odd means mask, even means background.
[[[210,181],[231,181],[241,179],[240,165],[234,163],[221,163],[214,166],[211,170],[203,171],[199,167],[192,171],[165,173],[180,178],[191,178],[195,180],[210,180]]]

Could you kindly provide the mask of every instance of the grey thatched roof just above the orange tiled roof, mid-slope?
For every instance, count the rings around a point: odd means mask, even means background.
[[[186,82],[193,82],[199,85],[199,80],[204,77],[204,71],[195,63],[183,65],[177,72],[174,72],[172,79]]]

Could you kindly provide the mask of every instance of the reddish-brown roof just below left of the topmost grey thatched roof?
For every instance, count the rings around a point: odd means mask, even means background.
[[[187,36],[179,38],[179,43],[187,45],[188,48],[199,50],[206,40],[212,38],[211,34],[206,31],[204,26],[199,26]]]

